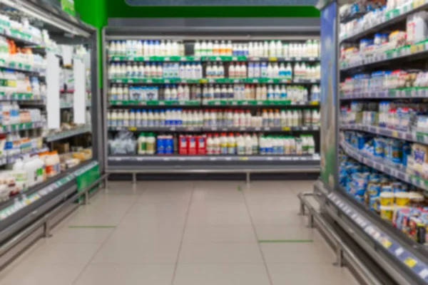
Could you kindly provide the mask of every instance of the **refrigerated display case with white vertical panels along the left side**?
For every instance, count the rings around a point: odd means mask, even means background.
[[[103,171],[97,31],[45,4],[0,1],[1,266]]]

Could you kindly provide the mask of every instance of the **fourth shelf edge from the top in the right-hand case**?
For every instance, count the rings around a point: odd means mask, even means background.
[[[428,145],[428,134],[417,132],[402,132],[399,130],[391,130],[389,128],[379,128],[372,125],[361,125],[361,124],[346,124],[340,125],[342,130],[360,130],[366,133],[372,133],[375,135],[384,135],[389,138],[398,138],[400,140],[408,140],[410,142],[419,142]]]

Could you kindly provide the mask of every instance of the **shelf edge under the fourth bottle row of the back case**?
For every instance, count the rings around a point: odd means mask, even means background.
[[[300,131],[318,131],[319,126],[303,126],[303,127],[272,127],[272,128],[240,128],[240,127],[183,127],[183,126],[165,126],[165,127],[108,127],[108,130],[119,131],[129,130],[131,132],[300,132]]]

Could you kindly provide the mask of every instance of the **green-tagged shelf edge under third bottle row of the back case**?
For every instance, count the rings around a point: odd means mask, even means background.
[[[111,106],[319,106],[317,101],[292,102],[291,100],[110,100]],[[61,107],[62,108],[62,107]]]

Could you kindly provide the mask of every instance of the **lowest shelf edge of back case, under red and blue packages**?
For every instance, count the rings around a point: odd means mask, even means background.
[[[183,161],[203,161],[203,162],[228,162],[228,161],[320,161],[320,155],[130,155],[130,156],[109,156],[108,161],[116,162],[183,162]]]

